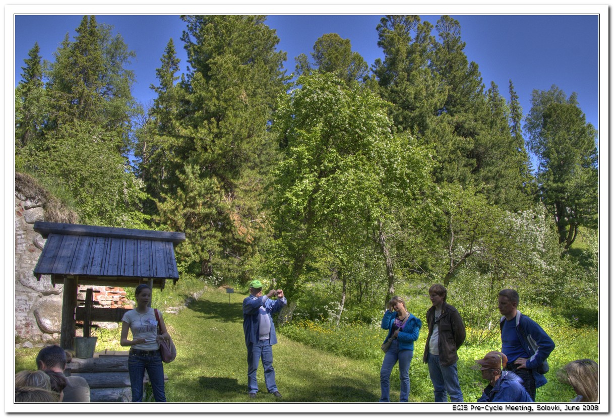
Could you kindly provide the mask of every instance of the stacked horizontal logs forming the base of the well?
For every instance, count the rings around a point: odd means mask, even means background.
[[[91,358],[73,357],[71,362],[66,363],[64,374],[84,377],[90,385],[90,402],[132,401],[127,351],[99,352]],[[168,381],[166,374],[164,381]],[[143,378],[143,393],[147,393],[147,385],[149,385],[149,376],[146,371]],[[146,401],[152,401],[150,398]]]

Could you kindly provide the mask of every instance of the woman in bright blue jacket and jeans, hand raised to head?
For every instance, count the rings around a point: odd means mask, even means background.
[[[388,330],[384,343],[392,339],[384,355],[379,384],[381,386],[380,402],[390,402],[390,374],[398,362],[398,374],[401,379],[400,402],[408,402],[410,397],[410,364],[414,357],[414,341],[418,339],[422,321],[410,314],[405,308],[405,301],[400,296],[393,296],[384,312],[382,328]]]

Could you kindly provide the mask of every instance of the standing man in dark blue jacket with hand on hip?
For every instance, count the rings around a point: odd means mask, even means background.
[[[535,401],[538,387],[546,384],[546,358],[554,350],[554,341],[537,322],[518,311],[520,296],[513,289],[499,292],[501,352],[508,358],[505,370],[523,379],[523,385]]]

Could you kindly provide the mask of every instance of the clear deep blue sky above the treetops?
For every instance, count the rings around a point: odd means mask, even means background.
[[[599,15],[454,15],[461,24],[468,60],[475,61],[488,88],[491,81],[507,98],[512,80],[524,114],[530,110],[534,89],[548,90],[556,84],[570,95],[578,93],[580,107],[588,122],[599,128]],[[371,66],[383,58],[377,46],[376,26],[382,15],[269,15],[266,24],[276,29],[278,50],[287,52],[287,72],[295,68],[294,58],[313,51],[316,39],[325,33],[338,33],[350,39],[352,49]],[[435,25],[440,14],[421,15]],[[15,80],[20,80],[23,59],[34,42],[41,55],[53,60],[66,33],[76,34],[79,15],[15,16]],[[155,69],[172,37],[182,72],[186,61],[180,40],[185,23],[179,15],[96,15],[99,23],[114,26],[136,59],[131,69],[136,74],[133,95],[143,104],[153,98],[149,86],[157,84]],[[602,23],[603,25],[603,23]],[[435,29],[432,32],[436,35]]]

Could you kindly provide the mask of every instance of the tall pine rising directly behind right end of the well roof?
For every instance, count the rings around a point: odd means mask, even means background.
[[[276,152],[268,133],[284,91],[286,54],[262,16],[182,16],[190,71],[181,86],[176,192],[161,193],[160,221],[186,231],[182,262],[196,273],[246,279],[265,236],[263,182]],[[172,178],[171,178],[172,177]],[[166,180],[165,180],[166,181]]]

